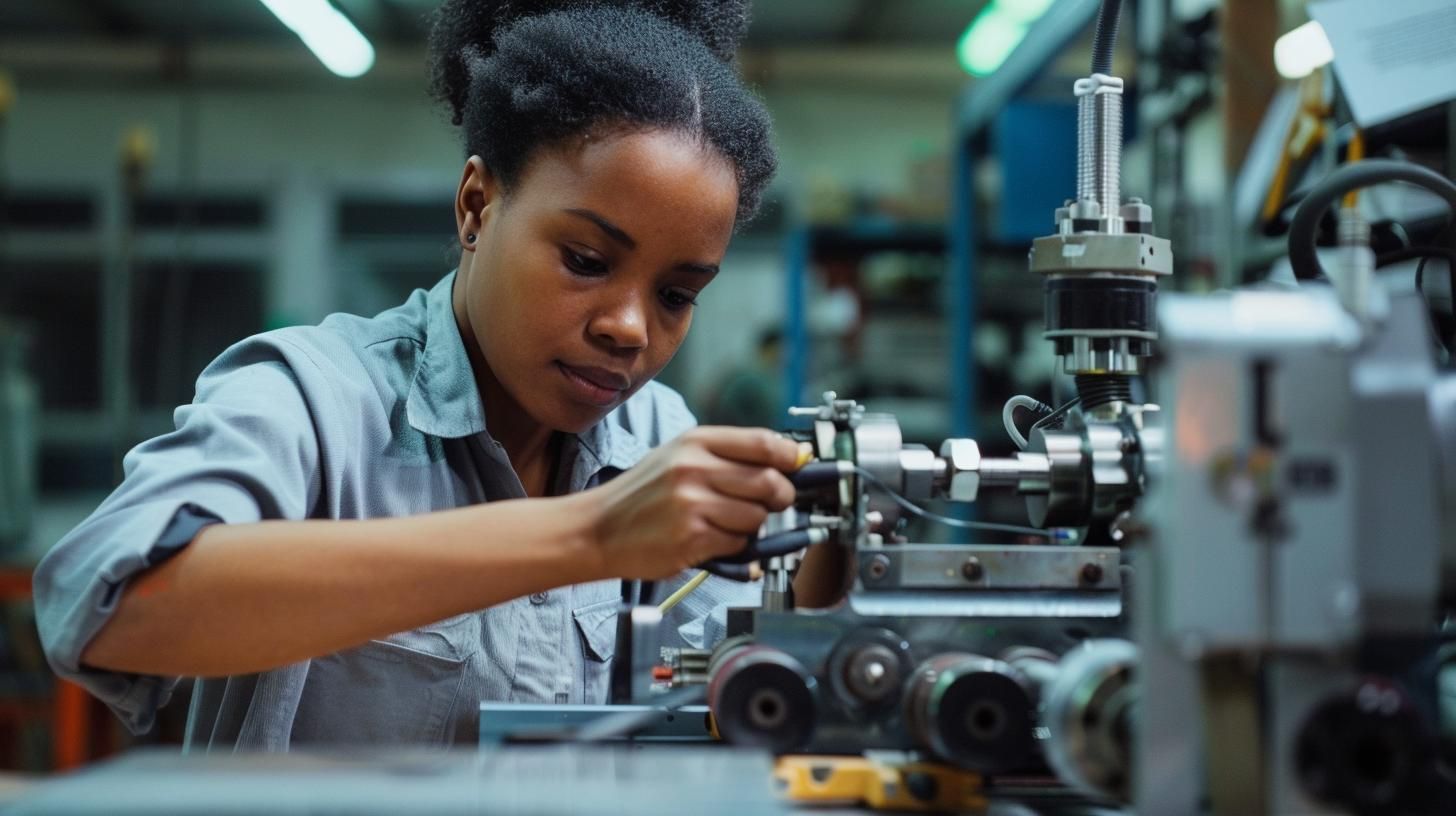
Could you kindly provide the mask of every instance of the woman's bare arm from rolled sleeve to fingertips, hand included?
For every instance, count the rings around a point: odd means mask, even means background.
[[[798,447],[696,428],[574,495],[403,519],[213,525],[132,578],[82,663],[144,675],[262,672],[523,595],[664,578],[743,548],[794,501]]]

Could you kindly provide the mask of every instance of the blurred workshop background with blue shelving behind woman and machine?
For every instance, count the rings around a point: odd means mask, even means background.
[[[0,3],[0,766],[134,740],[55,686],[26,603],[31,565],[121,453],[170,430],[230,342],[379,312],[457,256],[464,156],[425,93],[434,3],[332,0],[373,54],[349,64],[355,44],[333,68],[268,6]],[[1006,395],[1053,399],[1026,251],[1075,191],[1095,10],[759,0],[741,70],[782,172],[661,379],[705,421],[741,424],[834,389],[926,443],[1000,439]],[[1274,44],[1306,20],[1296,0],[1123,12],[1123,189],[1174,239],[1174,289],[1245,281],[1281,252],[1254,213],[1297,109]]]

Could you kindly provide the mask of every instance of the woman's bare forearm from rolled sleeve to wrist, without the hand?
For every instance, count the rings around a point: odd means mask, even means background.
[[[584,494],[360,522],[213,525],[137,576],[82,662],[262,672],[607,576]]]

